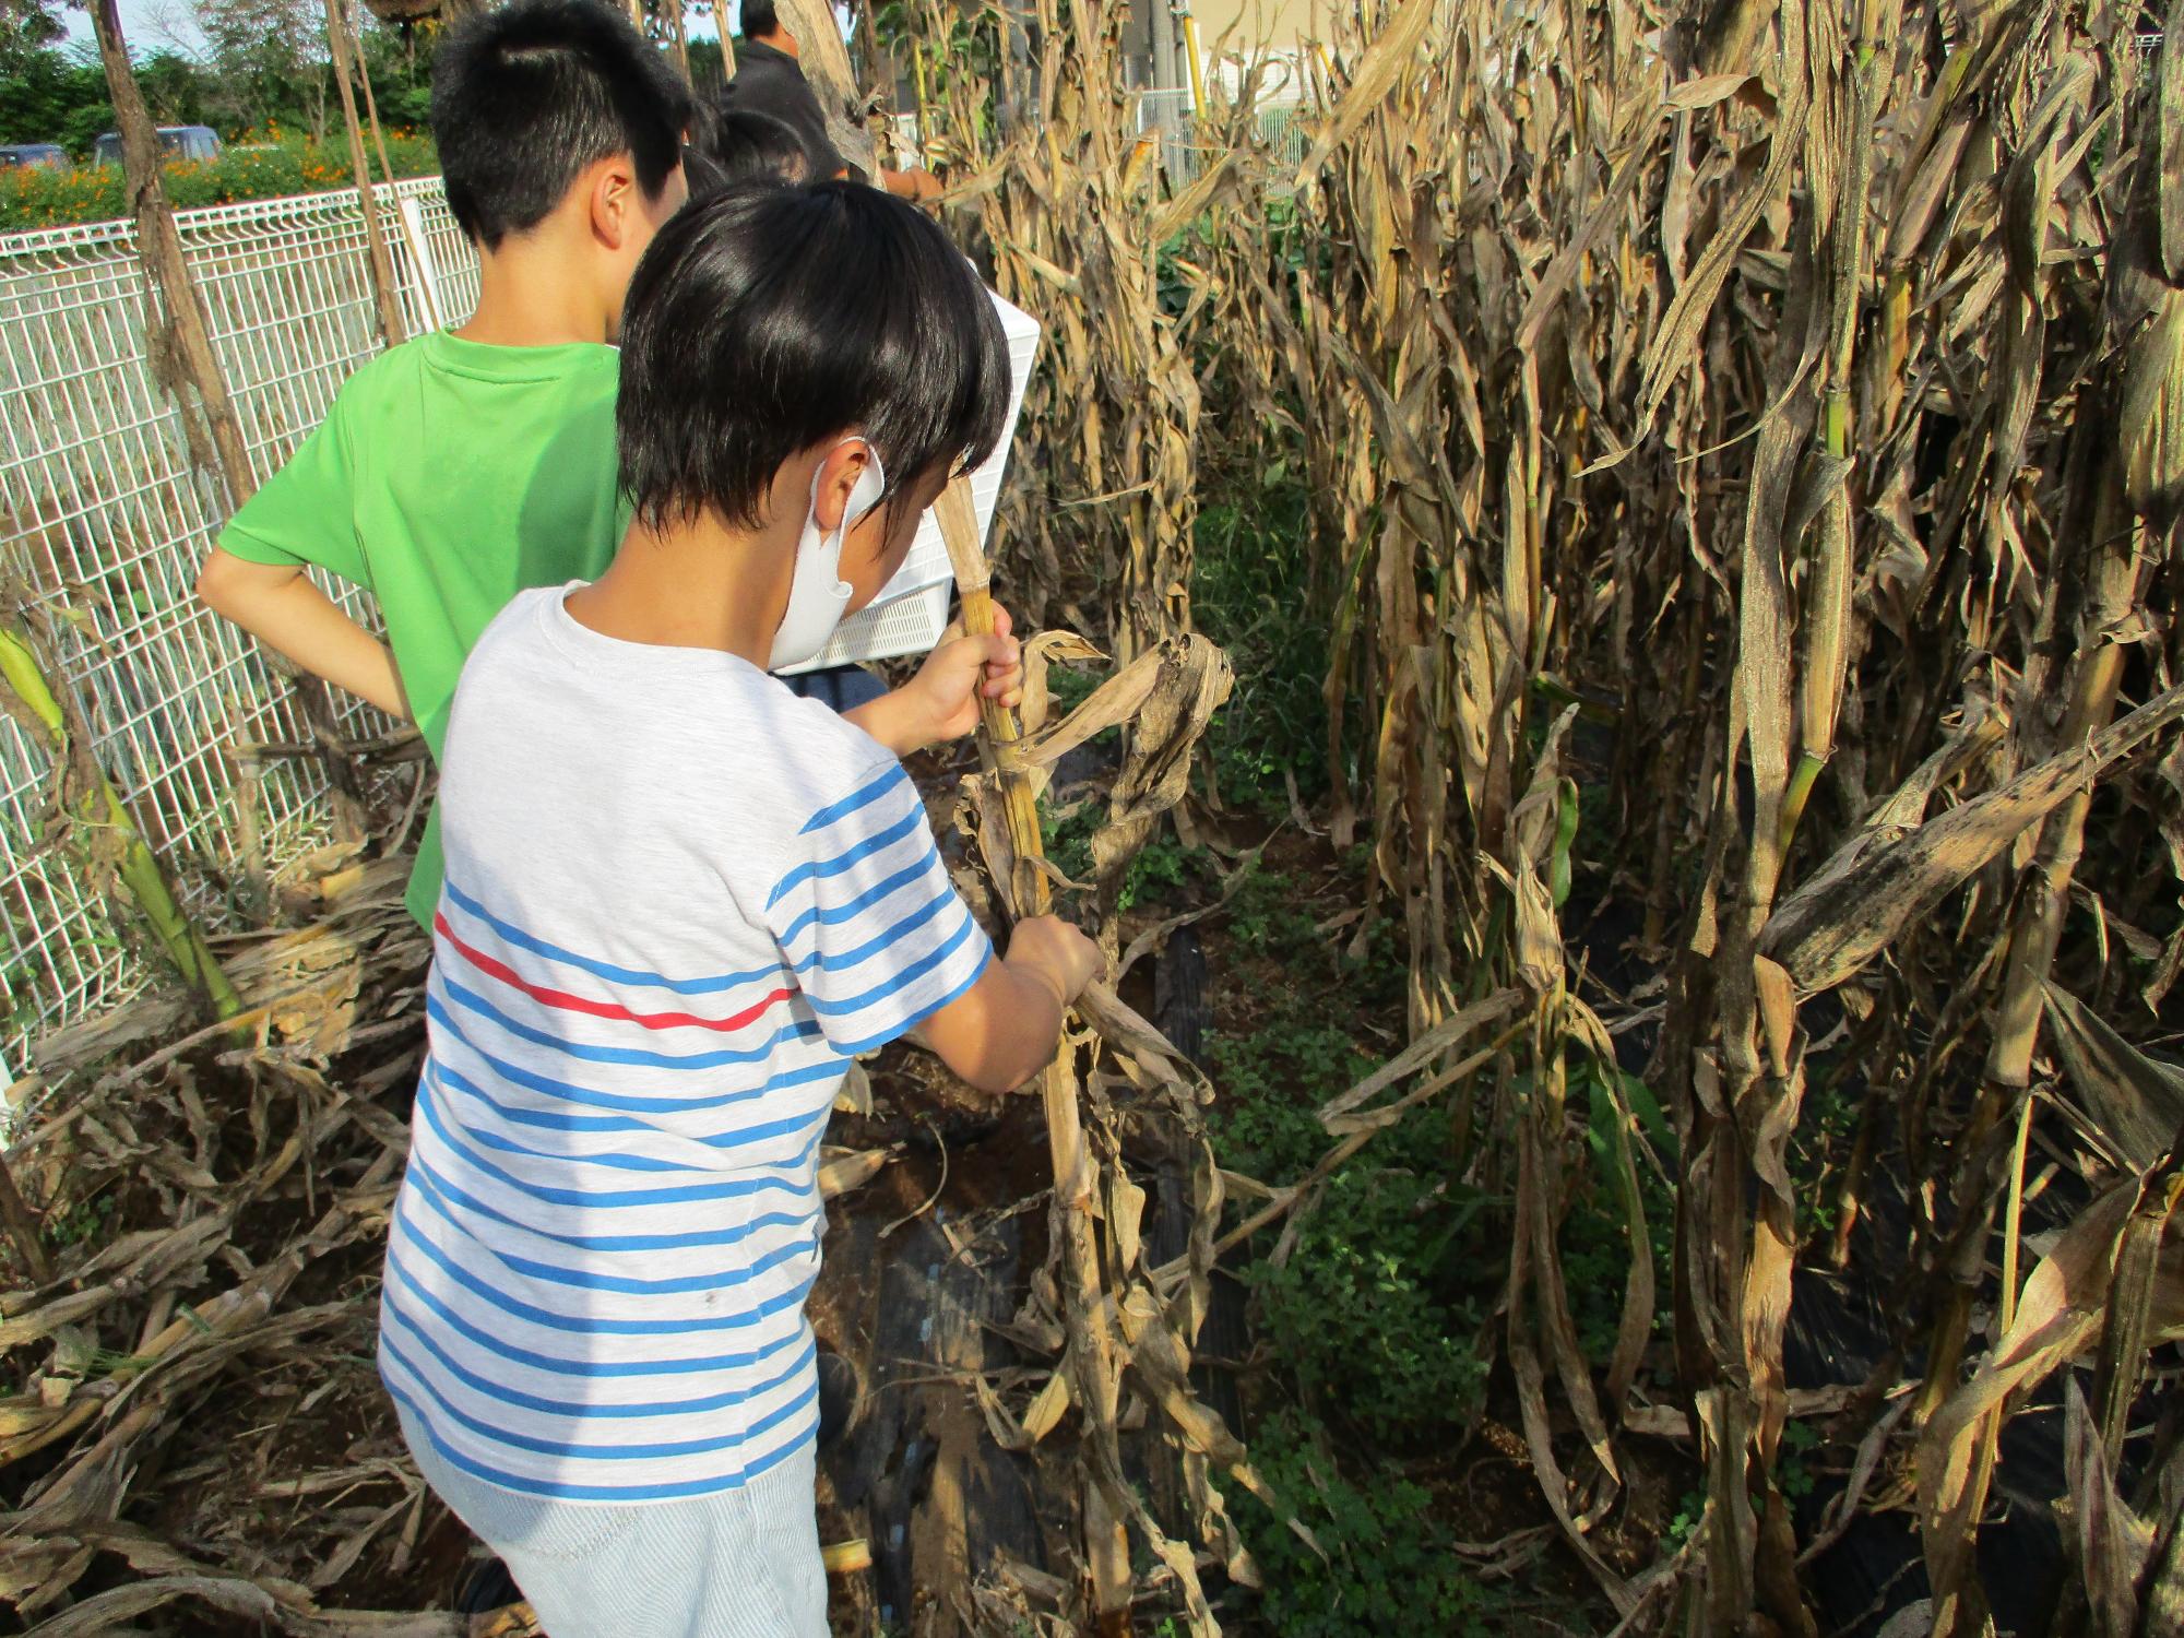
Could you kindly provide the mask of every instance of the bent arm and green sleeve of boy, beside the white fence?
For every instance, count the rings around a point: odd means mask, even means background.
[[[310,566],[371,585],[356,539],[356,472],[341,397],[227,520],[197,574],[197,596],[304,670],[406,721],[408,701],[387,644],[310,581]]]

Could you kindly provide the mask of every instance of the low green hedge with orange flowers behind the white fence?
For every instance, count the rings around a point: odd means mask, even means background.
[[[397,177],[430,177],[439,170],[432,138],[406,129],[387,133],[387,159]],[[378,155],[371,155],[371,168],[378,170]],[[245,138],[218,159],[170,162],[164,173],[166,197],[175,210],[354,186],[345,138],[312,142],[280,131],[269,131],[256,142]],[[120,166],[0,170],[0,232],[109,223],[127,214]]]

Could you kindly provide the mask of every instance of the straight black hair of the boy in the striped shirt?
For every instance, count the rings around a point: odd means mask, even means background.
[[[834,432],[871,443],[893,502],[985,461],[1007,417],[992,297],[939,223],[878,188],[729,188],[660,229],[629,282],[614,422],[655,529],[705,509],[760,526],[782,465]]]

